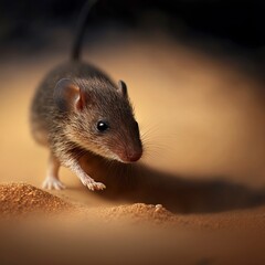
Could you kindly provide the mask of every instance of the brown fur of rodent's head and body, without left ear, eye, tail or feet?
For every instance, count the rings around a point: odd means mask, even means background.
[[[85,94],[82,110],[62,110],[55,104],[54,88],[62,78],[73,81]],[[105,132],[96,129],[100,119],[109,124]],[[47,74],[32,102],[31,128],[34,139],[49,146],[66,167],[87,151],[125,162],[129,153],[142,151],[127,96],[102,71],[81,62],[62,64]]]

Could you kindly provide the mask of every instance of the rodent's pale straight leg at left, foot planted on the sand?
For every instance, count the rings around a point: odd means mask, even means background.
[[[60,161],[51,153],[47,163],[46,178],[42,183],[43,189],[62,190],[65,186],[59,180]]]

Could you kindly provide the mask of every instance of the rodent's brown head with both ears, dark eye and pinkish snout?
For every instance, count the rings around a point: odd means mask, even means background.
[[[138,124],[127,86],[105,78],[61,80],[54,102],[67,114],[65,136],[96,155],[120,162],[134,162],[142,155]]]

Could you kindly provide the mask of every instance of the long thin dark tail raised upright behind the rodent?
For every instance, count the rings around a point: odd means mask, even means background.
[[[81,45],[84,39],[86,20],[89,11],[92,10],[92,8],[95,6],[96,2],[97,0],[87,0],[81,10],[77,24],[76,24],[76,35],[75,35],[73,47],[71,51],[72,61],[78,61],[81,57]]]

